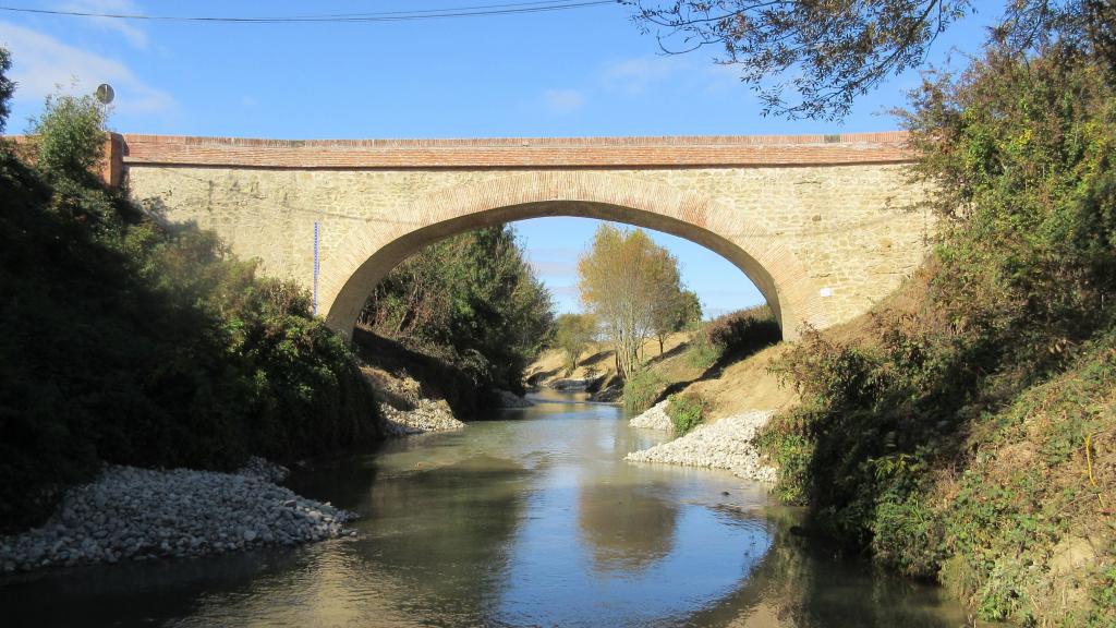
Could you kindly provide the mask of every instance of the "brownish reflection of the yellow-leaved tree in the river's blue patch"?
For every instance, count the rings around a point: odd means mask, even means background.
[[[597,571],[641,571],[671,553],[679,506],[631,484],[589,484],[577,524]]]

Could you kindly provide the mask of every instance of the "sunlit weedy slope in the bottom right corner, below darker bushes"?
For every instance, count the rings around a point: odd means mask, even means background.
[[[1116,626],[1116,334],[972,424],[934,478],[940,578],[985,617]]]

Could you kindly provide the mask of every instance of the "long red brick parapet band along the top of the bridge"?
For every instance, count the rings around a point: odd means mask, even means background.
[[[373,170],[401,168],[793,166],[910,162],[907,134],[252,140],[123,135],[127,165]]]

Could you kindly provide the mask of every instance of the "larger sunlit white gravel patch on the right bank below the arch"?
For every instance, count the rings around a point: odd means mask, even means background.
[[[701,425],[689,434],[625,459],[635,463],[663,463],[690,467],[730,469],[733,475],[759,482],[775,482],[776,470],[760,463],[752,439],[772,412],[754,410],[725,417],[715,424]]]

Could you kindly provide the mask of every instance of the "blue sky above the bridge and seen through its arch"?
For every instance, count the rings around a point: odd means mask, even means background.
[[[440,9],[501,0],[212,2],[11,0],[6,6],[110,13],[298,16]],[[510,1],[510,0],[502,0]],[[978,4],[982,4],[978,2]],[[995,3],[993,3],[994,6]],[[862,98],[843,124],[764,118],[716,50],[662,56],[622,6],[387,23],[141,22],[0,11],[0,44],[20,87],[9,132],[22,132],[57,85],[117,94],[114,130],[281,139],[690,135],[885,131],[917,76]],[[982,15],[935,47],[972,50]],[[577,308],[575,265],[596,223],[518,223],[560,311]],[[761,303],[735,267],[655,234],[706,312]]]

